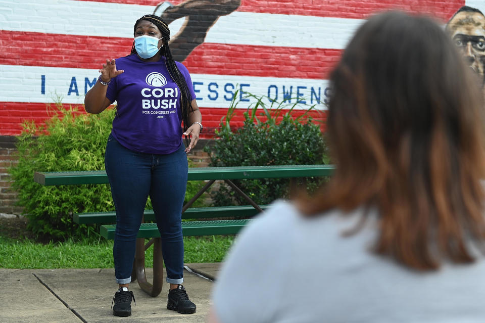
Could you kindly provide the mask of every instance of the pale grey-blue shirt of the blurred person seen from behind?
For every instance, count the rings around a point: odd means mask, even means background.
[[[214,287],[221,323],[485,322],[485,262],[418,272],[370,252],[375,214],[304,218],[275,202],[241,232]]]

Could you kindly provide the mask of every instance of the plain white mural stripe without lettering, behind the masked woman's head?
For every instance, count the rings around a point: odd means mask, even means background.
[[[19,6],[15,0],[4,0],[0,8],[3,16],[0,29],[131,38],[136,19],[154,9],[155,6],[73,0],[36,0]],[[31,15],[32,12],[36,14]],[[219,18],[209,30],[206,42],[343,49],[363,22],[361,19],[236,11]],[[183,19],[178,19],[170,25],[172,35],[182,23]],[[235,36],[227,37],[228,34]]]

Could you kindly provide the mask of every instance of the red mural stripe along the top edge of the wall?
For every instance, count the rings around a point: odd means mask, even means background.
[[[90,0],[82,0],[90,1]],[[155,7],[162,3],[159,0],[100,0],[99,2],[144,5]],[[183,1],[170,1],[178,5]],[[301,15],[317,17],[338,17],[365,19],[368,15],[390,9],[399,9],[413,13],[425,13],[447,21],[453,13],[465,5],[465,0],[242,0],[237,11],[269,14]],[[216,6],[216,5],[214,5]]]

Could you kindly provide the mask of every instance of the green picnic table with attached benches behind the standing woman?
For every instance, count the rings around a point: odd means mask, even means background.
[[[313,176],[330,176],[333,165],[284,165],[284,166],[240,166],[240,167],[200,167],[189,168],[188,180],[206,180],[205,186],[182,209],[182,218],[201,219],[219,217],[251,217],[262,212],[266,205],[256,204],[241,191],[231,179],[256,178],[303,178]],[[237,194],[243,197],[249,206],[229,206],[215,208],[189,208],[216,180],[223,180]],[[35,172],[34,181],[45,186],[61,186],[76,184],[108,183],[104,170],[100,171],[70,171],[70,172]],[[115,212],[78,213],[73,215],[76,223],[114,223]],[[144,212],[144,221],[152,221],[152,210]],[[227,235],[236,234],[250,220],[205,220],[182,222],[184,236]],[[116,225],[105,224],[100,227],[100,233],[107,239],[114,238]],[[132,281],[137,280],[140,288],[151,296],[158,296],[163,283],[163,260],[161,253],[160,234],[155,223],[142,223],[136,242],[136,254],[133,262]],[[152,238],[145,244],[146,238]],[[153,248],[153,284],[147,282],[145,273],[145,251]]]

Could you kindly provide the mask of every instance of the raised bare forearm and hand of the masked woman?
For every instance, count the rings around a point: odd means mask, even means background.
[[[115,60],[106,60],[106,64],[103,64],[103,68],[99,69],[101,73],[100,79],[104,83],[109,83],[112,78],[123,73],[123,70],[116,69]],[[93,87],[87,91],[84,97],[84,109],[87,113],[98,114],[108,108],[112,102],[106,97],[106,91],[108,85],[103,85],[98,79]]]

